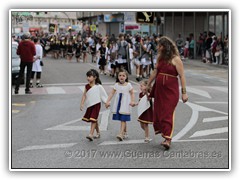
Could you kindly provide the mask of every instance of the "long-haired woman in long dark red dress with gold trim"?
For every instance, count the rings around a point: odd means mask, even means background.
[[[179,101],[180,78],[182,87],[182,101],[188,100],[183,63],[180,59],[175,43],[168,37],[162,37],[158,45],[158,60],[152,72],[148,86],[153,80],[151,96],[154,97],[153,126],[155,134],[161,134],[165,139],[161,145],[170,148],[174,130],[174,113]]]

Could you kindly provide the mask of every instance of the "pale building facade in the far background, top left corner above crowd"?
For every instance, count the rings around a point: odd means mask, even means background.
[[[53,33],[65,33],[69,27],[80,30],[80,22],[77,21],[76,12],[12,12],[12,32],[21,34],[30,31],[32,34],[51,31],[49,27],[54,25]]]

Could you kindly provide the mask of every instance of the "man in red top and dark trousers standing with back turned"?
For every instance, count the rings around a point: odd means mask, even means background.
[[[32,72],[32,64],[34,56],[36,55],[36,48],[34,43],[30,40],[30,33],[27,32],[23,35],[24,40],[19,43],[17,54],[20,56],[20,72],[15,86],[15,94],[18,94],[20,82],[24,76],[25,67],[27,67],[27,77],[26,77],[26,89],[25,94],[32,94],[30,91],[30,79]]]

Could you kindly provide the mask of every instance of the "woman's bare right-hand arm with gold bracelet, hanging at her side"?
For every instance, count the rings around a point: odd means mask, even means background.
[[[179,57],[173,59],[173,65],[176,66],[177,72],[180,77],[181,87],[182,87],[182,101],[185,103],[188,101],[188,95],[186,91],[186,78],[184,74],[183,63]]]

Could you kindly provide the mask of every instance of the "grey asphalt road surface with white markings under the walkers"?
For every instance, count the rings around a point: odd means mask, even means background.
[[[89,61],[90,62],[90,61]],[[96,64],[44,59],[43,88],[32,95],[12,95],[11,167],[19,168],[229,168],[228,68],[184,62],[189,102],[176,109],[169,151],[155,136],[144,143],[144,132],[133,109],[129,138],[118,142],[120,123],[102,106],[101,138],[89,142],[89,124],[79,110],[86,72]],[[139,85],[129,76],[137,101]],[[107,92],[115,79],[101,75]]]

